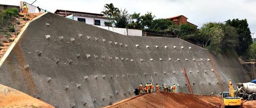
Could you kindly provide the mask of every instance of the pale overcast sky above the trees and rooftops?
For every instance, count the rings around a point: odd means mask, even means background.
[[[20,1],[0,0],[0,4],[19,5]],[[31,4],[34,0],[24,1]],[[100,13],[106,3],[131,14],[152,12],[156,18],[184,15],[198,29],[207,22],[246,18],[250,31],[256,32],[256,0],[37,0],[33,5],[52,13],[56,9]]]

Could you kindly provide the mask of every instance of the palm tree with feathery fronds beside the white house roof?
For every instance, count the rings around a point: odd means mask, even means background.
[[[102,11],[101,13],[104,14],[104,16],[106,17],[113,18],[118,15],[120,11],[118,8],[114,7],[113,3],[110,3],[104,5],[104,11]]]

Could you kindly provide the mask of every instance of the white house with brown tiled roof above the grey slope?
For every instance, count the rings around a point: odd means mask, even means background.
[[[86,24],[105,26],[104,22],[110,22],[107,17],[103,14],[98,13],[87,13],[87,12],[77,12],[77,11],[67,11],[67,10],[56,10],[54,12],[60,16],[74,19],[76,21],[81,21]]]

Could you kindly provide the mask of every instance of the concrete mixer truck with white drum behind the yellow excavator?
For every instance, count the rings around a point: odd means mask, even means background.
[[[243,99],[254,100],[256,99],[256,84],[252,82],[238,83],[237,91],[234,93]]]

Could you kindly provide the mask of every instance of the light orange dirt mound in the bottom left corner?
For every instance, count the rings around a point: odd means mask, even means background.
[[[54,108],[39,99],[0,84],[0,108]]]

